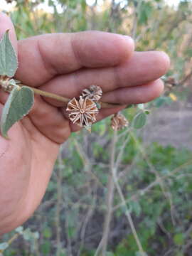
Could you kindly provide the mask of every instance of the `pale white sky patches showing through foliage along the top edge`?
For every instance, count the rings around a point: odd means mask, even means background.
[[[9,11],[9,9],[11,8],[11,6],[14,6],[14,4],[6,4],[5,0],[0,0],[1,4],[0,4],[0,11],[1,10],[5,10],[5,11]],[[86,0],[87,4],[94,4],[95,0]],[[119,1],[119,0],[117,0]],[[177,6],[180,0],[166,0],[167,4],[169,4],[170,6]],[[98,0],[97,1],[98,4],[102,4],[102,0]],[[48,0],[46,0],[46,4],[40,4],[39,8],[42,9],[46,9],[46,11],[48,12],[53,12],[52,7],[48,6]],[[62,10],[60,10],[60,7],[58,6],[58,12],[60,12]]]

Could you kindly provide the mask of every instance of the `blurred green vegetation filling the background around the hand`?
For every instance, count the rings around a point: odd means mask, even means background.
[[[49,12],[40,8],[44,2]],[[137,50],[166,51],[171,70],[163,78],[164,95],[144,106],[151,110],[150,116],[174,101],[188,102],[190,95],[186,86],[192,75],[192,4],[180,1],[173,7],[168,2],[18,0],[13,1],[9,15],[18,39],[101,30],[131,35]],[[105,255],[142,255],[126,217],[128,210],[147,255],[191,256],[192,152],[161,142],[144,144],[145,128],[132,129],[139,112],[137,106],[124,110],[130,127],[117,134],[115,166],[125,203],[115,189]],[[22,228],[4,235],[0,243],[0,250],[5,248],[3,255],[100,255],[109,210],[107,184],[112,176],[114,132],[109,124],[110,119],[105,119],[93,126],[92,134],[82,130],[63,144],[41,206]]]

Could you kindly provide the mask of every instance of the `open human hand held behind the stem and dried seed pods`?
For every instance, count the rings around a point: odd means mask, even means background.
[[[0,36],[10,29],[18,52],[16,79],[64,97],[78,97],[92,84],[102,87],[102,101],[128,105],[148,102],[163,88],[159,79],[169,68],[161,52],[134,52],[131,38],[89,31],[58,33],[16,41],[14,26],[0,14]],[[0,92],[0,114],[7,94]],[[0,136],[0,235],[25,222],[48,186],[59,146],[79,129],[69,122],[63,103],[36,96],[33,109]],[[100,110],[97,119],[122,110]]]

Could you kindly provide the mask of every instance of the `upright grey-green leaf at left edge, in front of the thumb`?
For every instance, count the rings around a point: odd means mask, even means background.
[[[18,68],[17,56],[9,40],[9,31],[4,33],[0,41],[0,75],[12,78]]]

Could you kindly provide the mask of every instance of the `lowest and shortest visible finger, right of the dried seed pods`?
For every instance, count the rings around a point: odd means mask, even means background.
[[[122,105],[146,103],[159,97],[163,90],[164,82],[159,79],[142,86],[121,88],[107,92],[102,96],[102,102]]]

